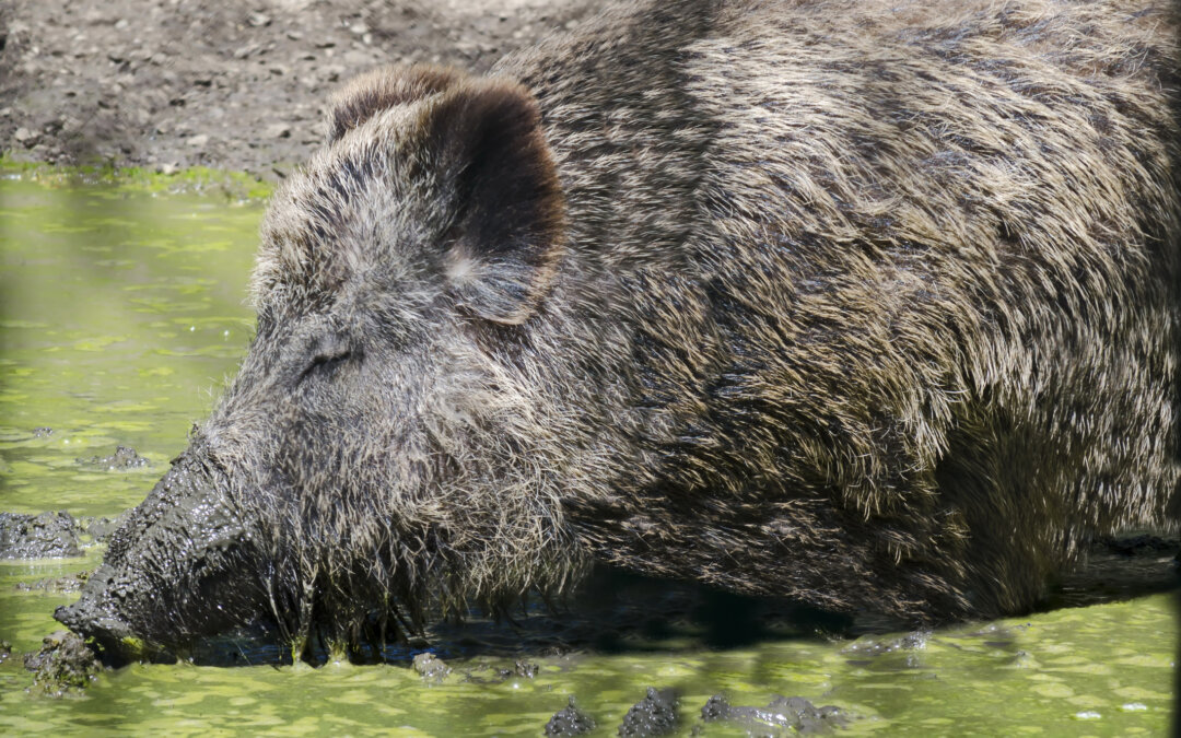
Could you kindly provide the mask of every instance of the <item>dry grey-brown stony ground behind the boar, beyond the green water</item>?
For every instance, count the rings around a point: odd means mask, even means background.
[[[282,178],[342,80],[483,71],[593,0],[0,0],[0,150],[17,161]]]

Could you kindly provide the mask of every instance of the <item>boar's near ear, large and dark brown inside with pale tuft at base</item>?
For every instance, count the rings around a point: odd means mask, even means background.
[[[444,254],[450,287],[487,320],[524,322],[562,253],[562,192],[537,103],[521,85],[477,79],[424,116],[431,165],[455,213]]]

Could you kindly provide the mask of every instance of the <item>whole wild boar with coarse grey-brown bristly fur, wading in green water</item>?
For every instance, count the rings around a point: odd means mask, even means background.
[[[1147,0],[653,2],[485,78],[360,77],[272,203],[257,337],[178,463],[204,482],[165,477],[59,615],[355,645],[590,560],[1030,608],[1090,537],[1179,518],[1175,31]],[[110,595],[169,586],[214,594]]]

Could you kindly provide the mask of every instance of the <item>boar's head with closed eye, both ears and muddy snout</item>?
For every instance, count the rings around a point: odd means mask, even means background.
[[[270,204],[239,374],[58,620],[175,652],[261,619],[299,652],[560,587],[560,431],[509,339],[552,292],[562,213],[522,87],[347,86]]]

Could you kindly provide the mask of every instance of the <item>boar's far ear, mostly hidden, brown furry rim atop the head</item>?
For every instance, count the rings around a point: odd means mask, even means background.
[[[383,110],[443,92],[465,77],[459,70],[433,64],[387,66],[354,77],[328,98],[328,143]]]

